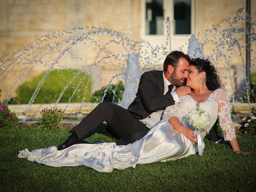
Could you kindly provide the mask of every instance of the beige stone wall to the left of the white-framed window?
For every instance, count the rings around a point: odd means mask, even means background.
[[[46,34],[74,26],[96,26],[124,33],[133,40],[140,39],[139,0],[0,0],[0,56],[18,50]],[[104,41],[108,37],[102,37]],[[120,48],[110,47],[121,52]],[[68,61],[68,58],[66,58]],[[81,68],[80,66],[68,66]],[[102,76],[93,73],[94,90],[108,83],[116,70],[104,64],[98,67]],[[3,93],[22,70],[15,66],[1,82]],[[26,80],[38,75],[44,67],[37,67]]]

